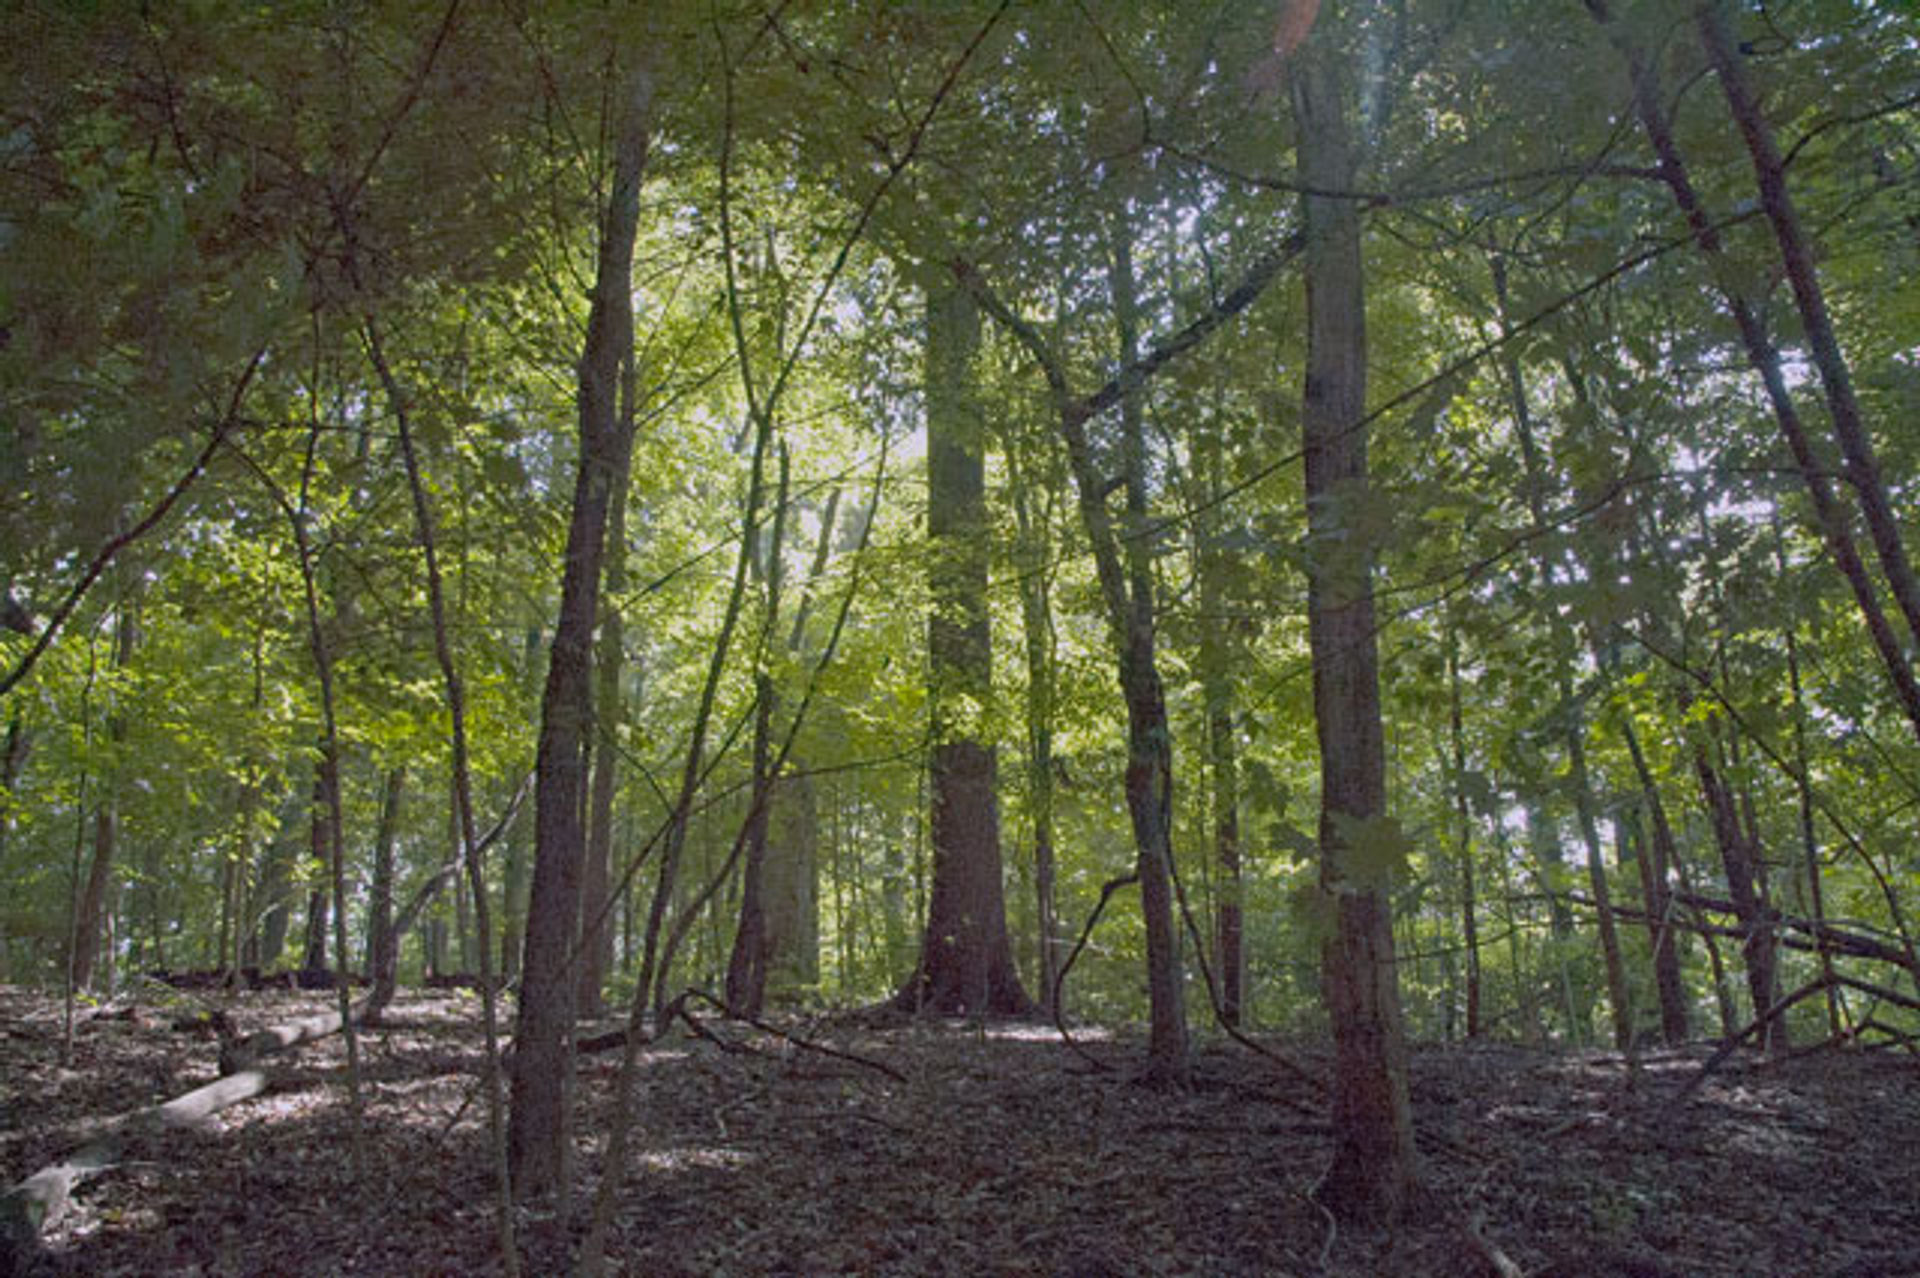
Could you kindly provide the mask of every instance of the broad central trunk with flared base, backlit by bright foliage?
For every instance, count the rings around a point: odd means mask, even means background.
[[[895,1006],[933,1015],[1025,1015],[1000,883],[1000,810],[987,626],[985,422],[973,390],[979,311],[956,286],[927,296],[927,541],[933,612],[927,693],[933,888],[914,975]]]

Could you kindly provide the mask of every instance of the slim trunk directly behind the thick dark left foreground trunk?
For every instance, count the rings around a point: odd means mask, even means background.
[[[634,357],[622,361],[620,432],[634,436]],[[620,785],[620,720],[626,714],[620,679],[626,668],[626,626],[620,616],[620,597],[626,593],[626,499],[632,474],[632,449],[620,459],[607,499],[607,551],[601,593],[612,601],[601,612],[599,652],[593,658],[593,760],[591,794],[588,798],[588,850],[580,883],[580,1013],[599,1017],[607,1011],[607,973],[612,969],[612,800]]]

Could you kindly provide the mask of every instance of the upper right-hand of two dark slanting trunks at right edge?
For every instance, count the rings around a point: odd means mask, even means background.
[[[1786,265],[1788,284],[1793,288],[1793,305],[1799,309],[1807,347],[1820,372],[1820,390],[1826,393],[1834,438],[1847,459],[1845,480],[1866,514],[1868,537],[1880,556],[1880,568],[1893,591],[1893,601],[1899,604],[1901,616],[1907,618],[1907,629],[1914,641],[1920,641],[1920,581],[1914,580],[1914,568],[1901,537],[1901,522],[1887,495],[1860,401],[1853,391],[1847,355],[1839,349],[1839,336],[1834,332],[1834,317],[1826,307],[1826,290],[1820,286],[1820,271],[1814,265],[1814,248],[1807,240],[1807,230],[1788,190],[1786,159],[1780,155],[1772,125],[1768,125],[1766,111],[1747,79],[1743,54],[1738,52],[1734,35],[1728,31],[1724,2],[1701,0],[1695,10],[1695,25],[1720,81],[1720,90],[1726,94],[1726,107],[1734,123],[1740,125],[1740,136],[1753,159],[1761,207],[1766,209],[1766,221],[1780,244],[1780,259]]]

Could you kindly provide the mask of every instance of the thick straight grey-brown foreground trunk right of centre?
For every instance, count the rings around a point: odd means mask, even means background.
[[[1300,178],[1354,190],[1346,88],[1331,52],[1294,65]],[[1334,1157],[1321,1201],[1346,1220],[1396,1217],[1417,1184],[1407,1048],[1400,1013],[1392,906],[1357,865],[1356,835],[1382,831],[1386,748],[1380,727],[1367,497],[1367,317],[1359,207],[1306,198],[1308,372],[1302,405],[1308,501],[1308,641],[1321,748],[1321,883],[1334,927],[1321,950],[1332,1021]]]

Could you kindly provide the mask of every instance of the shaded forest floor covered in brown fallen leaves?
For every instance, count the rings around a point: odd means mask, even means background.
[[[324,1009],[252,994],[242,1029]],[[117,1007],[125,1007],[119,1004]],[[88,1123],[215,1077],[215,1044],[171,1029],[184,996],[81,1011],[0,986],[0,1176],[60,1159]],[[106,1009],[113,1011],[113,1009]],[[478,1000],[403,996],[361,1036],[363,1167],[342,1040],[276,1086],[83,1184],[48,1230],[56,1274],[497,1272]],[[1396,1230],[1334,1228],[1304,1080],[1231,1042],[1194,1086],[1129,1082],[1137,1038],[1048,1027],[795,1025],[887,1065],[707,1021],[641,1055],[637,1149],[620,1194],[628,1274],[1920,1274],[1920,1063],[1707,1048],[1613,1053],[1421,1048],[1413,1105],[1430,1201]],[[1323,1052],[1269,1044],[1313,1075]],[[618,1053],[582,1061],[580,1184],[599,1178]],[[518,1217],[530,1274],[564,1270],[568,1228]],[[1480,1242],[1475,1240],[1475,1234]],[[572,1230],[578,1238],[578,1230]]]

